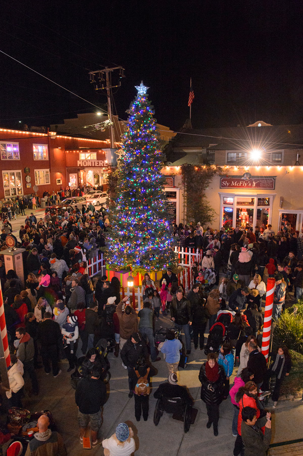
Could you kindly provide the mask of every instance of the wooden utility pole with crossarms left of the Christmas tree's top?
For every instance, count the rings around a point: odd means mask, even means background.
[[[112,86],[111,80],[110,80],[110,72],[113,72],[115,70],[119,70],[119,83]],[[111,100],[112,91],[111,91],[111,89],[121,86],[121,79],[123,77],[125,77],[124,71],[125,70],[122,66],[115,66],[113,68],[109,68],[106,66],[102,70],[90,71],[88,73],[90,83],[94,85],[95,90],[105,90],[106,89],[106,91],[107,91],[109,119],[111,122],[111,126],[110,126],[111,149],[115,148],[114,122],[113,122],[113,118],[112,118],[113,114],[112,114],[112,100]],[[104,75],[105,75],[106,79],[104,78]],[[106,81],[106,86],[104,85],[104,81]]]

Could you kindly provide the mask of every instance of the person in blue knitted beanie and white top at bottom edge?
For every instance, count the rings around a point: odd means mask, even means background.
[[[120,423],[109,439],[104,439],[104,456],[130,456],[136,449],[133,430],[126,423]]]

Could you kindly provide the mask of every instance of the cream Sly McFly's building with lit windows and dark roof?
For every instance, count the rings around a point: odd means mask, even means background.
[[[248,127],[188,129],[186,133],[178,134],[166,148],[168,166],[163,171],[175,176],[180,188],[181,222],[189,220],[180,165],[189,163],[217,168],[206,190],[216,213],[213,227],[249,224],[255,228],[270,223],[278,231],[284,218],[293,230],[302,228],[303,126],[274,127],[258,121]]]

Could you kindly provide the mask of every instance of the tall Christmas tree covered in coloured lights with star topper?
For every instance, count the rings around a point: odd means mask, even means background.
[[[118,153],[117,197],[112,230],[107,235],[107,262],[113,269],[161,270],[175,262],[175,240],[161,174],[163,154],[153,107],[146,95],[148,87],[141,82],[136,89]]]

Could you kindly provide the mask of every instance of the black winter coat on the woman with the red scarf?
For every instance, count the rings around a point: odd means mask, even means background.
[[[225,374],[222,366],[219,365],[219,379],[210,382],[206,376],[206,363],[202,364],[199,371],[199,381],[201,383],[201,399],[209,405],[219,405],[223,400],[223,389]]]

